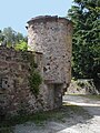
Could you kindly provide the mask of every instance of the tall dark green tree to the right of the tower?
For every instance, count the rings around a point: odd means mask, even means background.
[[[73,22],[72,74],[76,78],[94,78],[100,73],[100,0],[73,2],[68,11]]]

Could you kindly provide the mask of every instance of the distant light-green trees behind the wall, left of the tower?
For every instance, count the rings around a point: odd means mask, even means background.
[[[27,50],[28,38],[16,32],[11,27],[0,30],[0,42],[2,45],[16,48],[16,50]]]

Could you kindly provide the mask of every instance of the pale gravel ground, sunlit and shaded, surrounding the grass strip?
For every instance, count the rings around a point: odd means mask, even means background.
[[[84,96],[64,95],[64,104],[82,106],[90,116],[64,116],[64,122],[48,121],[43,125],[32,122],[16,125],[14,133],[100,133],[100,101]],[[70,112],[71,113],[71,112]]]

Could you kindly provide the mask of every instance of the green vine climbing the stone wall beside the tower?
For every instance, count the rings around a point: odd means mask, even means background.
[[[42,78],[37,70],[38,64],[34,63],[34,54],[29,54],[30,61],[30,76],[29,76],[29,85],[31,92],[37,96],[39,94],[39,86],[42,83]]]

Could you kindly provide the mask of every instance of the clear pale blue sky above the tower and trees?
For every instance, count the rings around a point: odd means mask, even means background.
[[[27,34],[24,28],[28,20],[37,16],[66,17],[72,0],[1,0],[0,29],[11,27]]]

